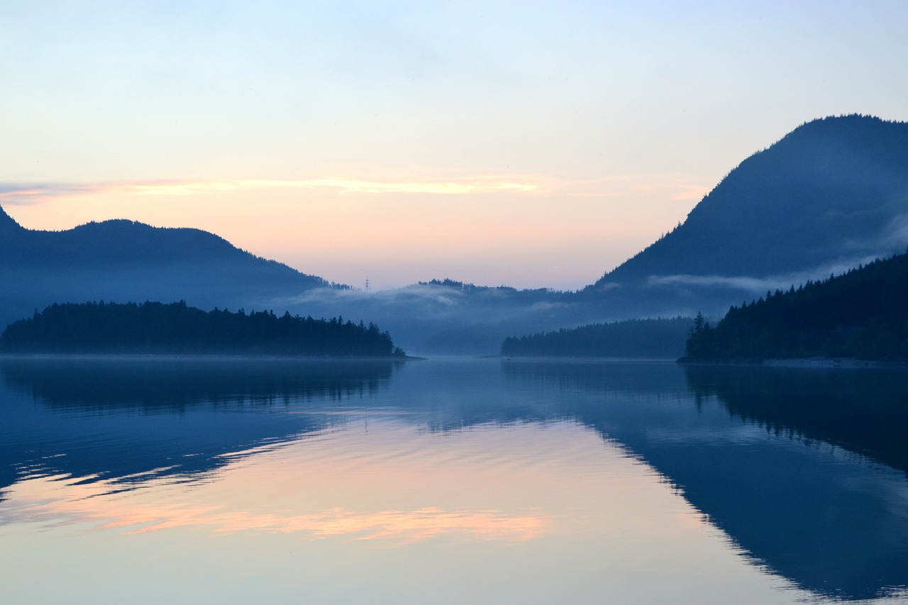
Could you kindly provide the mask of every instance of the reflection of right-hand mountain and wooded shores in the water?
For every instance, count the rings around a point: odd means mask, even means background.
[[[593,404],[562,401],[655,467],[756,564],[835,599],[908,586],[908,484],[893,471],[908,460],[905,372],[532,362],[502,369],[562,395],[599,392]]]

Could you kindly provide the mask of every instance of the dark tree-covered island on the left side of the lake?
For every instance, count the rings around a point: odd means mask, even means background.
[[[277,316],[215,309],[186,302],[53,304],[11,323],[0,351],[54,353],[218,353],[403,356],[374,323]]]

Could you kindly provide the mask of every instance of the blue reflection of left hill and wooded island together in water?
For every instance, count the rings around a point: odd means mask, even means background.
[[[0,500],[22,477],[69,475],[113,481],[114,489],[161,478],[203,479],[227,463],[225,454],[339,422],[326,402],[368,400],[387,389],[397,367],[384,361],[2,359]],[[22,405],[23,396],[33,404]],[[261,413],[286,410],[291,402],[318,402],[325,413]]]

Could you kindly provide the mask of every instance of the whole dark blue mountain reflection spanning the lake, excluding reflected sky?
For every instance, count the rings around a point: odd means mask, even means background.
[[[655,469],[752,563],[798,587],[857,600],[908,586],[906,372],[477,360],[418,368],[4,359],[0,500],[16,481],[42,476],[123,490],[203,481],[238,452],[317,435],[353,412],[381,410],[429,432],[568,421]]]

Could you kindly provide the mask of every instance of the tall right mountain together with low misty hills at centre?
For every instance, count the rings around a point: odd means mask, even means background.
[[[430,282],[390,293],[310,291],[297,312],[367,317],[422,352],[491,353],[515,334],[720,316],[906,245],[908,124],[827,117],[745,159],[683,224],[577,293]]]

